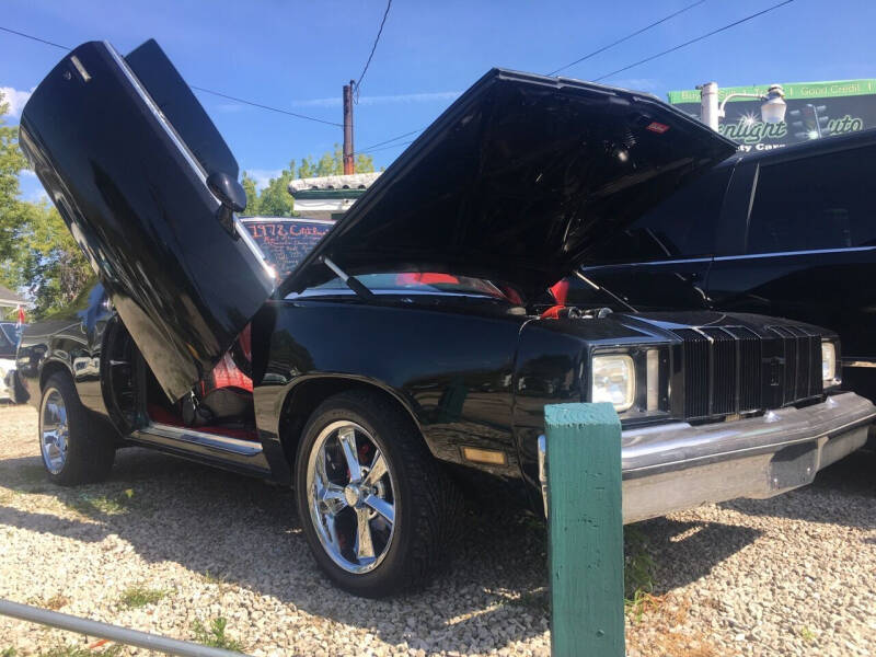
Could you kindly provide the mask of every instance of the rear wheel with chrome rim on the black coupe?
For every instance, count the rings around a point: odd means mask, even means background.
[[[103,481],[113,468],[114,437],[82,405],[65,373],[50,376],[43,387],[39,453],[48,479],[61,486]]]

